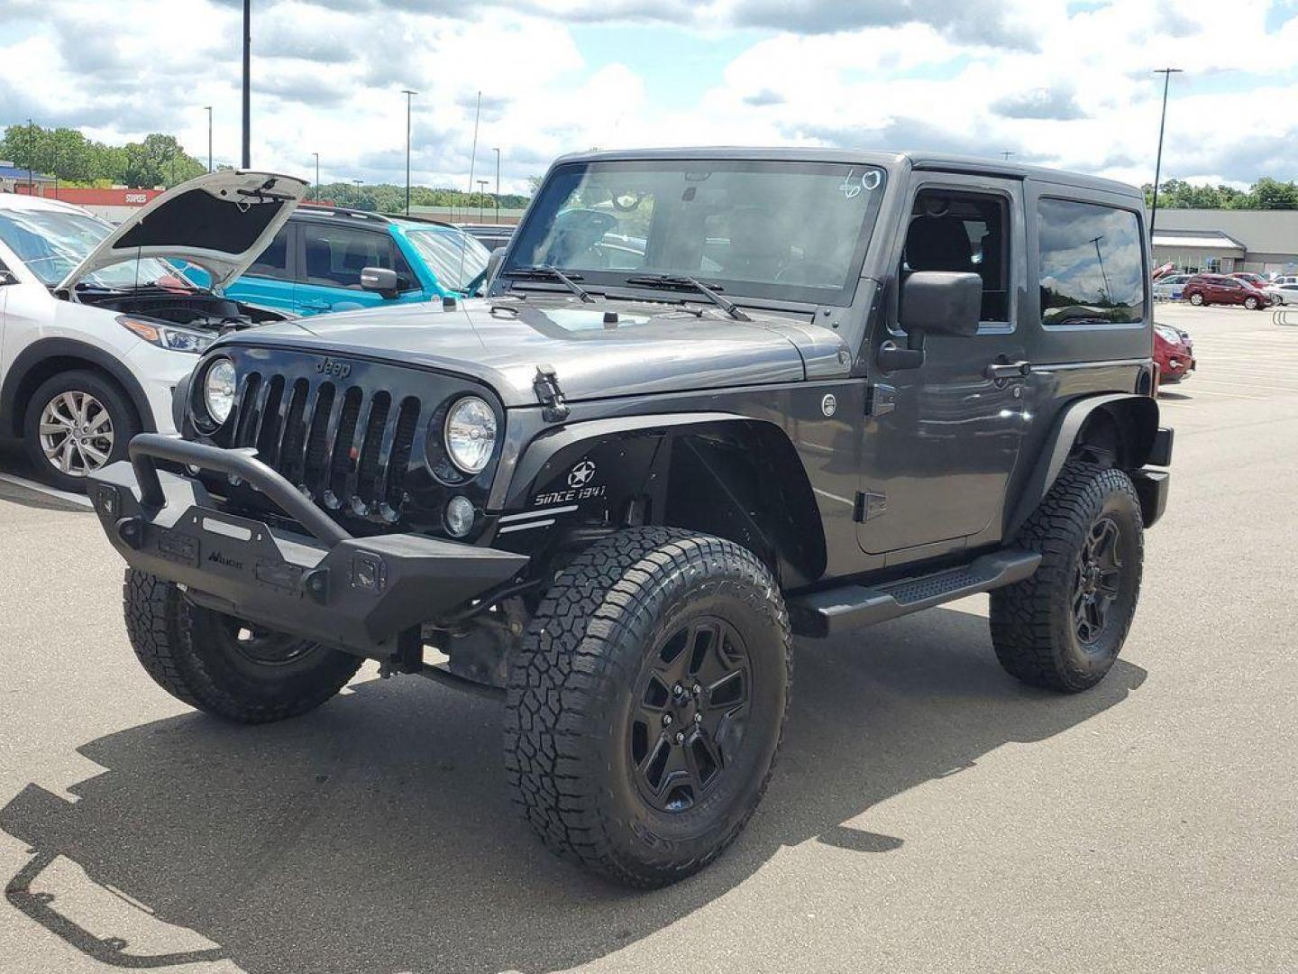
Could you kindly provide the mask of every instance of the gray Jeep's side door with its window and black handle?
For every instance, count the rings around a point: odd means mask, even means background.
[[[1031,409],[1023,194],[1018,181],[916,171],[898,229],[890,306],[870,338],[857,536],[887,564],[932,557],[998,532]],[[907,334],[901,291],[915,271],[983,278],[976,335]],[[923,347],[923,364],[880,370],[883,345]]]

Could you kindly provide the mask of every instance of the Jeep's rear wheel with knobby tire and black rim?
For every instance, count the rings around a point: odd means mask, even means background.
[[[1096,686],[1118,658],[1140,597],[1144,522],[1131,478],[1070,461],[1018,544],[1041,552],[1041,566],[992,592],[997,658],[1032,686]]]

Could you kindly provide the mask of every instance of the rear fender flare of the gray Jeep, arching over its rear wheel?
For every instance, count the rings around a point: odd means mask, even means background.
[[[1006,525],[1006,538],[1018,534],[1050,492],[1088,421],[1098,416],[1105,416],[1118,430],[1120,451],[1118,465],[1121,469],[1133,471],[1149,462],[1158,435],[1158,403],[1153,397],[1121,392],[1075,400],[1060,410],[1054,429],[1046,438],[1032,477]]]

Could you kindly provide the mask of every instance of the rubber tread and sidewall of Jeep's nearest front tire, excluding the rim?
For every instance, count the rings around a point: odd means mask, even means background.
[[[689,810],[662,810],[635,777],[627,729],[643,701],[633,687],[658,665],[672,627],[714,617],[746,647],[749,716],[723,766],[731,777]],[[511,660],[504,744],[513,799],[559,856],[630,886],[674,883],[719,856],[757,808],[790,683],[788,614],[757,556],[675,529],[620,531],[559,571]]]

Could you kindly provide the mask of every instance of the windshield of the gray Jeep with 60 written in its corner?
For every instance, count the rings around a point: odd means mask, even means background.
[[[883,183],[881,169],[837,162],[566,165],[505,270],[549,265],[587,288],[694,277],[731,297],[849,304]]]

